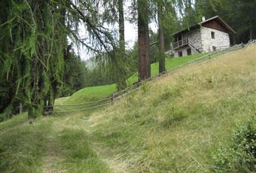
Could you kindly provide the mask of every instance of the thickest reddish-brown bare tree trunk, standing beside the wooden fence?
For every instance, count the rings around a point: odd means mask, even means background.
[[[151,76],[148,34],[148,3],[138,0],[139,80]]]

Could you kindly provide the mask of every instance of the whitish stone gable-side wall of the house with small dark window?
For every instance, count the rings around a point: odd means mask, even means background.
[[[213,47],[230,47],[230,36],[226,32],[206,27],[202,27],[200,30],[203,51],[210,52]],[[215,38],[212,38],[211,32],[215,32]]]

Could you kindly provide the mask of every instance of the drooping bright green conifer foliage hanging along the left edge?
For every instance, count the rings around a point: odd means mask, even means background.
[[[63,20],[62,3],[1,3],[5,6],[1,11],[1,74],[6,80],[9,76],[17,77],[12,99],[24,102],[29,118],[35,118],[44,110],[45,101],[53,105],[57,83],[62,80],[62,50],[66,46],[65,29],[59,22]]]

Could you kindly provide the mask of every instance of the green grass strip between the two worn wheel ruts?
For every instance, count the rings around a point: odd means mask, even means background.
[[[65,158],[62,168],[68,172],[108,172],[108,166],[100,161],[84,130],[63,129],[59,135],[61,155]]]

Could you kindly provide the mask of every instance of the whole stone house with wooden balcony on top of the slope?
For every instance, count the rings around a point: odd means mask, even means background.
[[[173,34],[171,44],[175,57],[187,56],[194,53],[210,52],[230,47],[230,38],[235,35],[233,29],[215,16]]]

